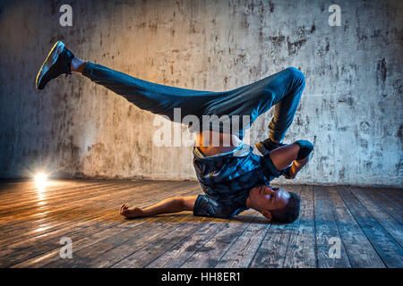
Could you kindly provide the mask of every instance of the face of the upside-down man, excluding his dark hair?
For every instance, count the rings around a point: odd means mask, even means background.
[[[250,196],[261,209],[267,211],[286,207],[290,198],[287,190],[271,186],[255,187],[251,189]]]

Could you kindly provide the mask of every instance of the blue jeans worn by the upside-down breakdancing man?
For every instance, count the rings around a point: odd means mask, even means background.
[[[171,121],[176,121],[175,108],[180,108],[180,117],[177,119],[181,122],[186,115],[194,115],[200,122],[205,121],[203,116],[217,115],[219,117],[219,124],[210,120],[213,123],[201,123],[199,130],[214,130],[219,126],[219,131],[223,131],[221,119],[227,115],[229,122],[233,122],[236,118],[240,127],[237,130],[231,130],[231,133],[238,135],[241,139],[244,136],[244,130],[273,105],[275,109],[269,124],[269,137],[279,141],[284,139],[287,129],[293,122],[305,86],[304,74],[293,67],[244,87],[224,92],[159,85],[90,62],[87,63],[82,74],[125,97],[139,108],[153,114],[165,115]]]

